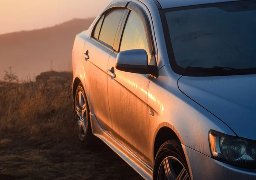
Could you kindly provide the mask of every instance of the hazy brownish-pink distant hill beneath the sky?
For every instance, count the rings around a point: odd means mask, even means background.
[[[73,19],[44,29],[0,34],[0,79],[9,66],[22,80],[49,70],[71,71],[75,36],[93,20]]]

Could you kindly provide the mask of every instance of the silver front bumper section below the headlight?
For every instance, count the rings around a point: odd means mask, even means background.
[[[231,166],[186,147],[193,180],[256,180],[256,169]]]

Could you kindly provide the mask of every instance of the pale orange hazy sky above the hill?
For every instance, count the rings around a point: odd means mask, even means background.
[[[0,34],[95,17],[111,0],[0,0]]]

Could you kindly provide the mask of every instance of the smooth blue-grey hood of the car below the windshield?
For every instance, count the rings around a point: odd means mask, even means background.
[[[181,77],[179,89],[227,124],[256,140],[256,75]]]

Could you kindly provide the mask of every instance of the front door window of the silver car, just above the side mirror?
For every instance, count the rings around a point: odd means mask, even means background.
[[[128,16],[119,51],[131,49],[145,49],[148,54],[148,60],[150,60],[151,54],[148,50],[144,26],[140,17],[138,17],[133,11],[131,11]]]

